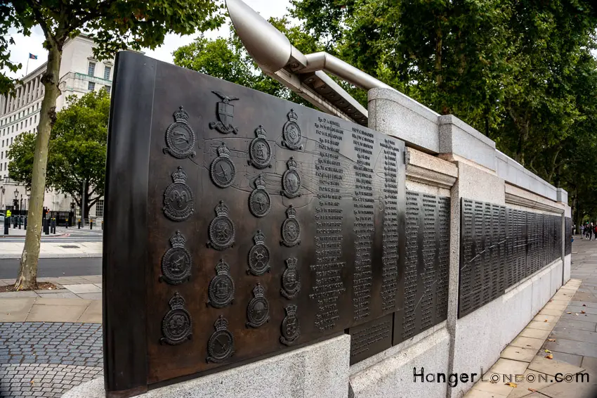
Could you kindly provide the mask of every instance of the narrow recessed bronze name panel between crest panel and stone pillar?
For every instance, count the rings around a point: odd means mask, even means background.
[[[404,307],[395,312],[393,344],[447,317],[450,198],[407,191]]]

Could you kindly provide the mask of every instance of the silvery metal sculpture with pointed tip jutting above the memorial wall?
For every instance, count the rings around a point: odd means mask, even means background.
[[[367,125],[367,110],[325,72],[365,90],[393,89],[329,53],[303,54],[242,0],[226,0],[242,44],[266,75],[324,112]]]

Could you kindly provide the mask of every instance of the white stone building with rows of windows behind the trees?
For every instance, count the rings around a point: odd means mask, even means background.
[[[66,105],[66,98],[71,95],[82,96],[89,91],[98,91],[105,87],[112,88],[114,60],[98,61],[93,57],[93,40],[79,35],[67,40],[63,48],[60,65],[60,91],[56,101],[56,111]],[[0,206],[13,205],[16,198],[22,199],[22,209],[29,208],[29,191],[25,186],[16,184],[8,178],[6,154],[15,138],[24,132],[34,131],[39,123],[41,101],[44,99],[44,85],[41,76],[46,64],[39,66],[22,78],[22,85],[17,86],[16,96],[0,96]],[[46,191],[44,206],[53,211],[69,211],[72,198],[70,195],[50,190]],[[80,209],[77,208],[77,213]],[[103,200],[91,207],[90,217],[103,217]]]

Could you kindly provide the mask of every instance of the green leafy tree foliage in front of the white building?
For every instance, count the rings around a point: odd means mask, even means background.
[[[72,195],[81,205],[86,184],[88,210],[104,194],[107,124],[110,96],[105,89],[80,98],[67,98],[52,129],[48,154],[47,185]],[[8,176],[26,186],[31,184],[35,134],[21,134],[8,150]]]

